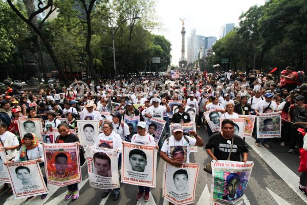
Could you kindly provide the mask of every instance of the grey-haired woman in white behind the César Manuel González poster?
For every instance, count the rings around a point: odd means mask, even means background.
[[[103,133],[101,133],[99,135],[98,140],[95,142],[94,147],[102,147],[102,148],[113,149],[113,150],[121,153],[121,151],[122,151],[122,143],[121,143],[122,139],[118,134],[116,134],[113,131],[112,123],[111,122],[104,122],[104,124],[102,125],[102,130],[103,130]],[[103,158],[97,159],[97,160],[100,160],[101,162],[94,160],[94,167],[97,170],[97,174],[99,175],[99,169],[100,169],[99,165],[102,165],[103,161],[107,161],[107,160],[105,160]],[[113,191],[114,191],[113,200],[114,201],[116,201],[119,197],[119,190],[120,190],[120,188],[113,189]],[[102,194],[102,198],[107,197],[107,195],[111,191],[112,191],[111,189],[106,189]]]

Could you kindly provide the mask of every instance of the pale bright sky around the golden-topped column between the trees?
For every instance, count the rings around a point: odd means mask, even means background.
[[[265,0],[159,0],[156,14],[162,23],[162,29],[153,33],[164,35],[171,43],[171,64],[178,65],[181,57],[181,29],[179,18],[185,18],[185,57],[187,57],[187,39],[191,30],[196,35],[220,36],[225,24],[239,24],[239,16],[253,5],[264,5]]]

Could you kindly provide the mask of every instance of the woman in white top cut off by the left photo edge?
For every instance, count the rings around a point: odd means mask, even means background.
[[[7,124],[0,122],[0,142],[1,147],[4,147],[7,159],[12,159],[16,156],[16,149],[19,147],[19,142],[17,136],[13,133],[7,131]],[[4,186],[0,189],[0,193],[6,190],[9,187],[8,183],[5,183]],[[9,189],[7,193],[12,193],[13,190]]]

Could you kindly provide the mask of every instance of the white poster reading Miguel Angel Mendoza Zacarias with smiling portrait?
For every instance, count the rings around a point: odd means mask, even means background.
[[[199,167],[197,163],[185,163],[178,168],[165,162],[163,197],[173,204],[193,203]]]

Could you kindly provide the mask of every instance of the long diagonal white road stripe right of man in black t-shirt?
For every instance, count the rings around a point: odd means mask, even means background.
[[[265,147],[256,147],[254,138],[245,138],[247,144],[287,183],[287,185],[305,202],[307,198],[297,189],[299,177],[292,172],[282,161]]]

